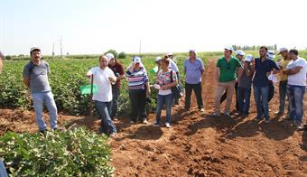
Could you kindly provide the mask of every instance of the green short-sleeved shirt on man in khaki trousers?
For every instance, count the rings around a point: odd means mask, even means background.
[[[229,82],[237,79],[237,69],[242,66],[236,57],[231,56],[229,61],[225,57],[220,58],[217,67],[219,68],[219,82]]]

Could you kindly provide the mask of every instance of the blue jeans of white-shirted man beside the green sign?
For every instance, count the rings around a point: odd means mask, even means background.
[[[101,133],[110,135],[116,133],[116,126],[114,126],[111,120],[111,101],[110,102],[100,102],[95,100],[95,107],[98,111],[98,115],[101,119]]]

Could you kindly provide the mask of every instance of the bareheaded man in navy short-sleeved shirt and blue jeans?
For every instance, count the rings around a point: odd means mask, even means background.
[[[269,82],[267,78],[271,72],[276,74],[279,72],[279,68],[272,60],[267,59],[267,47],[261,46],[259,49],[260,58],[256,58],[252,61],[251,70],[255,72],[253,79],[254,97],[256,101],[257,116],[256,120],[260,121],[265,116],[265,122],[270,122],[270,116],[268,113],[268,94],[269,94]],[[262,109],[262,107],[264,109]]]

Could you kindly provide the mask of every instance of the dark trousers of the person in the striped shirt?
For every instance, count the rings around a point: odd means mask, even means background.
[[[134,122],[143,121],[145,119],[146,90],[130,90],[129,98],[132,107],[131,120]]]

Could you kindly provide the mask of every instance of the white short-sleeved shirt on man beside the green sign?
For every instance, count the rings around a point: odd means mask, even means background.
[[[93,100],[100,102],[110,102],[112,100],[112,83],[109,77],[115,77],[114,72],[108,67],[102,70],[95,67],[88,70],[88,75],[94,75],[93,84],[98,86],[98,92],[93,94]]]

